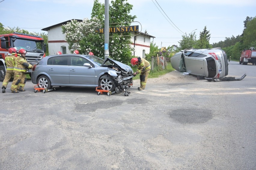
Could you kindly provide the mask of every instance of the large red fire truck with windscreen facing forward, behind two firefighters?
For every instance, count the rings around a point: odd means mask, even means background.
[[[0,81],[5,79],[5,57],[8,54],[9,48],[13,47],[17,52],[19,52],[20,49],[25,49],[27,52],[26,60],[30,64],[37,64],[45,57],[46,44],[44,43],[44,39],[40,36],[14,32],[12,34],[0,35],[0,39]],[[26,73],[30,74],[31,70],[28,70]]]

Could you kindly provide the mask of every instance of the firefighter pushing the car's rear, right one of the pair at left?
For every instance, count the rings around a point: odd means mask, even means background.
[[[26,51],[25,49],[20,49],[18,57],[15,60],[15,67],[13,69],[14,72],[14,80],[11,84],[11,92],[19,93],[20,91],[26,91],[24,89],[25,83],[27,81],[26,78],[26,68],[33,68],[34,66],[29,64],[26,61]]]

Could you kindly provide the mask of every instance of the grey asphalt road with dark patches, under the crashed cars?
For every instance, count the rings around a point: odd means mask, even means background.
[[[208,82],[173,71],[107,96],[63,87],[0,94],[0,169],[256,169],[256,66]]]

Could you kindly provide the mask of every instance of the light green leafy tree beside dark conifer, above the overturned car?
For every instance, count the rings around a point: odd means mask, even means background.
[[[182,40],[178,41],[180,44],[180,47],[177,49],[177,51],[183,50],[183,49],[190,49],[190,48],[195,48],[197,45],[197,40],[196,40],[196,32],[190,33],[187,35],[182,35]]]

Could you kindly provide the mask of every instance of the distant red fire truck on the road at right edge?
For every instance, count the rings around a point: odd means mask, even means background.
[[[247,65],[248,63],[256,65],[256,50],[254,47],[243,50],[241,54],[239,64]]]

